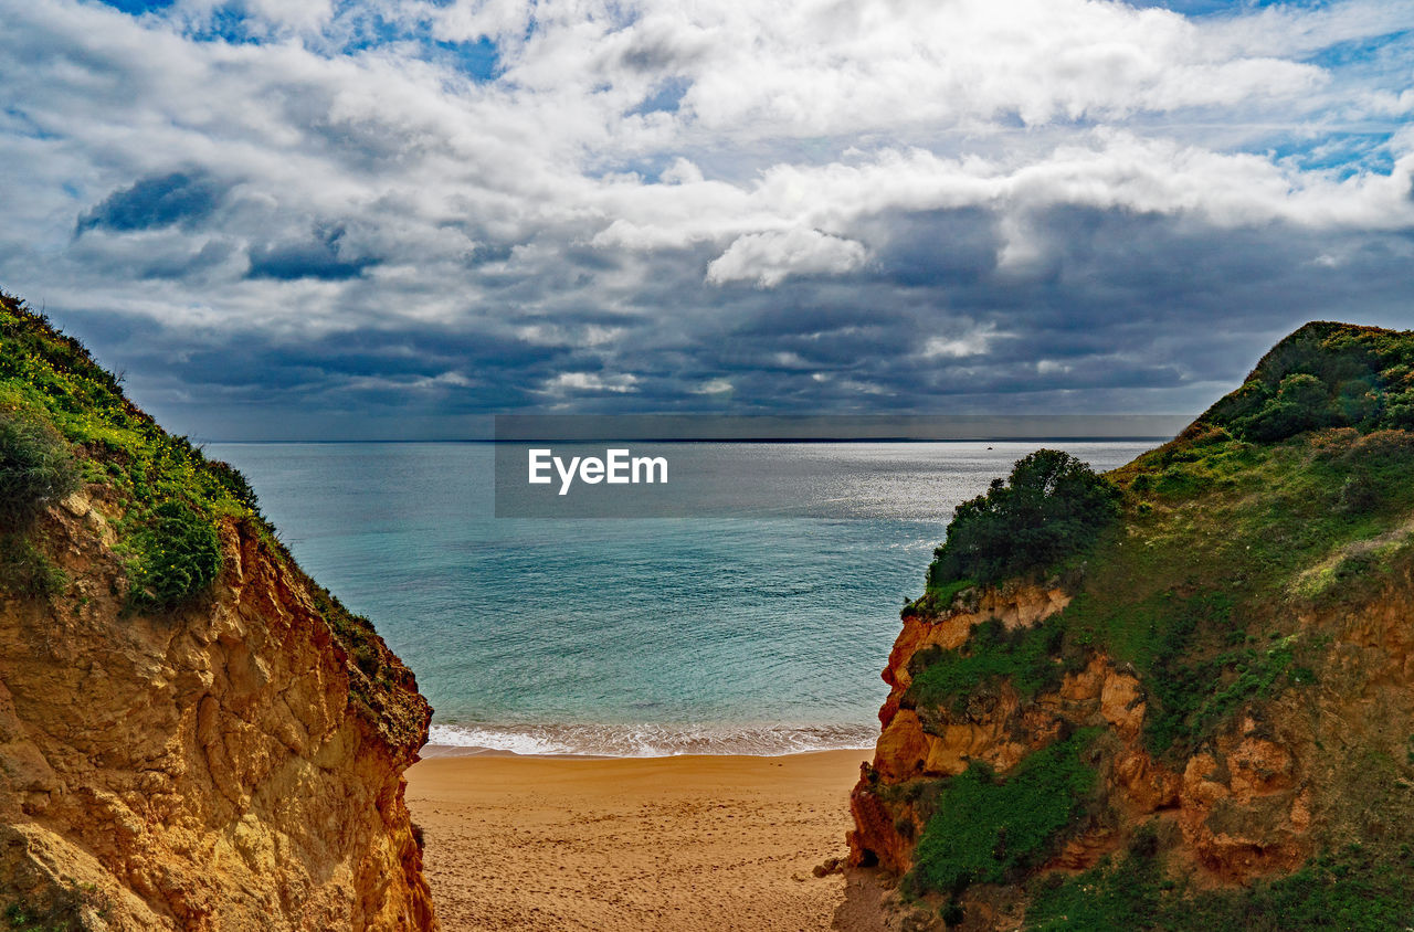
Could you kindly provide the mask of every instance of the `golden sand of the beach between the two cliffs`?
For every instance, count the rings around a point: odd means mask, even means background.
[[[864,932],[868,884],[812,868],[868,757],[433,757],[407,803],[448,932]]]

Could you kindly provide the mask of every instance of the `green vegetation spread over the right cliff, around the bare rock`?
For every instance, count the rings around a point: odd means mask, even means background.
[[[1264,727],[1266,706],[1290,726],[1318,714],[1314,683],[1332,694],[1357,682],[1350,655],[1332,649],[1340,622],[1322,619],[1349,618],[1348,608],[1414,576],[1414,334],[1304,327],[1175,441],[1103,481],[1060,470],[1073,484],[1038,481],[1048,470],[1022,461],[959,509],[925,597],[905,608],[974,605],[974,584],[1039,570],[1060,573],[1073,594],[1034,627],[987,621],[957,649],[919,651],[902,704],[923,728],[1003,683],[1028,703],[1099,655],[1138,676],[1144,741],[1171,765],[1246,711]],[[959,921],[970,884],[1025,883],[1068,830],[1094,817],[1087,761],[1099,767],[1107,745],[1089,744],[1052,744],[1003,776],[974,765],[881,791],[926,819],[909,890],[945,897],[945,918]],[[1322,754],[1322,767],[1340,768],[1332,785],[1342,792],[1319,800],[1318,854],[1298,871],[1205,890],[1165,864],[1154,832],[1140,832],[1085,874],[1032,877],[1025,928],[1414,928],[1414,735],[1372,733]]]

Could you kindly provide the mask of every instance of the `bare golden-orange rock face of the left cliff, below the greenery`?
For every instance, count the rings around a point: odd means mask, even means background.
[[[102,501],[42,519],[75,584],[0,607],[0,901],[93,929],[431,929],[403,805],[430,709],[372,709],[310,587],[242,522],[211,598],[124,612]],[[366,689],[366,685],[363,685]]]

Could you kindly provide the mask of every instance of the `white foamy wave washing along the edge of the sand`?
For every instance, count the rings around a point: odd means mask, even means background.
[[[689,724],[434,724],[423,757],[520,754],[537,757],[677,757],[748,754],[781,757],[807,751],[867,750],[878,726],[689,726]]]

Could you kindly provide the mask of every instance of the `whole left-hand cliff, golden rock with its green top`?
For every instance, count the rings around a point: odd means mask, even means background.
[[[0,909],[24,929],[433,929],[431,710],[245,479],[0,298]]]

